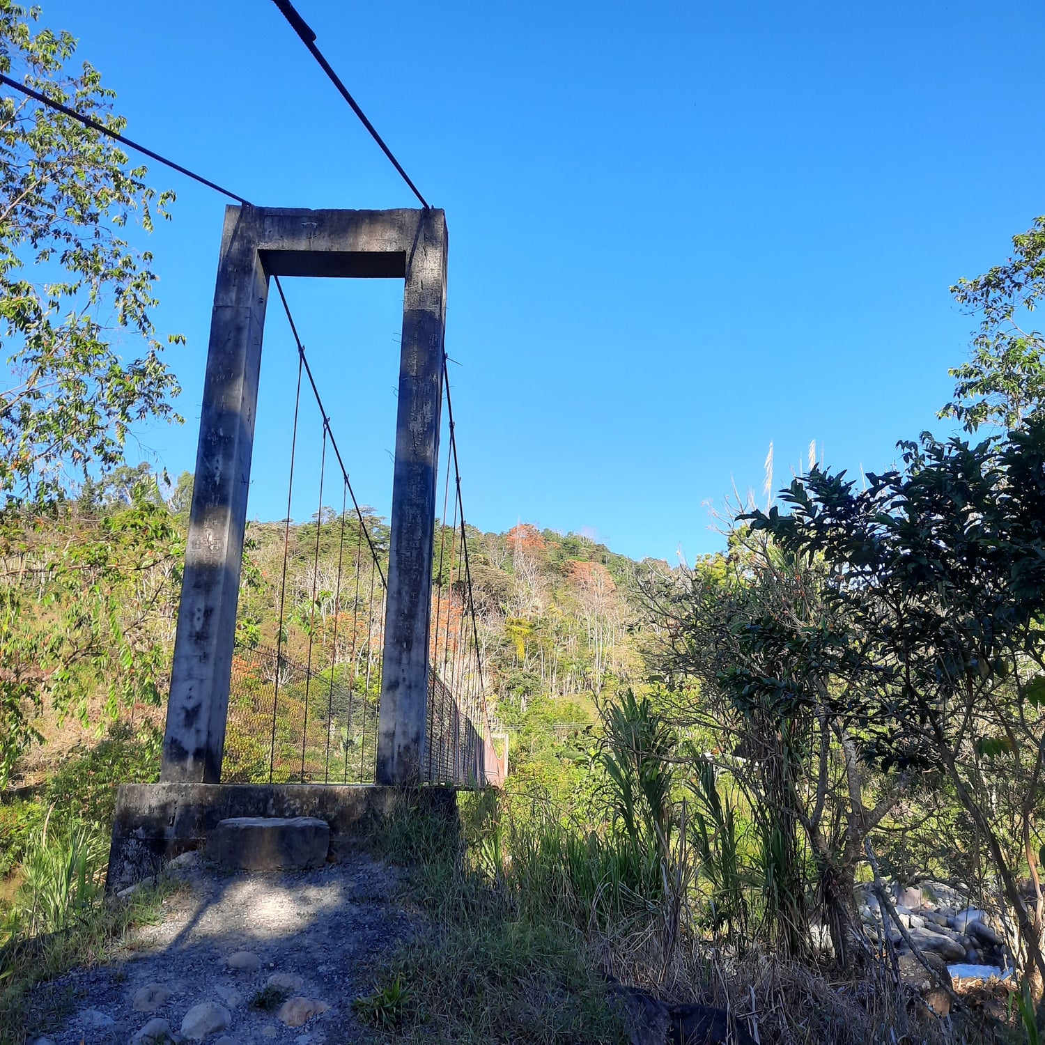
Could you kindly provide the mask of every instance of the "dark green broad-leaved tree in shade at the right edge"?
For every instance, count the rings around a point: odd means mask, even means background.
[[[923,434],[900,446],[904,467],[868,474],[865,489],[814,468],[785,491],[788,514],[747,518],[827,564],[853,654],[836,669],[852,683],[844,714],[862,726],[864,757],[950,782],[1040,990],[1045,419],[978,445]]]

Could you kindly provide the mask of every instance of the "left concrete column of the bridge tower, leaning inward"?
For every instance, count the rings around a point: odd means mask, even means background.
[[[226,210],[161,781],[222,776],[269,279],[253,209]]]

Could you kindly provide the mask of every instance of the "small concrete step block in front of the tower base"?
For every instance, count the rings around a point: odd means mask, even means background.
[[[232,816],[207,837],[207,859],[236,870],[314,870],[326,863],[330,826],[318,816]]]

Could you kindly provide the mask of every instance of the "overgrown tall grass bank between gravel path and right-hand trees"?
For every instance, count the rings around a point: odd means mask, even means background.
[[[623,1041],[616,979],[723,1008],[764,1045],[1005,1040],[976,1014],[936,1019],[887,962],[857,975],[782,943],[812,876],[714,756],[626,692],[583,809],[488,789],[460,795],[458,832],[404,808],[378,849],[412,867],[428,929],[375,970],[361,1019],[397,1042]]]

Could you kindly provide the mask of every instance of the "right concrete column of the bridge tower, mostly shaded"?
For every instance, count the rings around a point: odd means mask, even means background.
[[[446,246],[443,212],[422,211],[403,294],[377,784],[419,784],[424,759]]]

